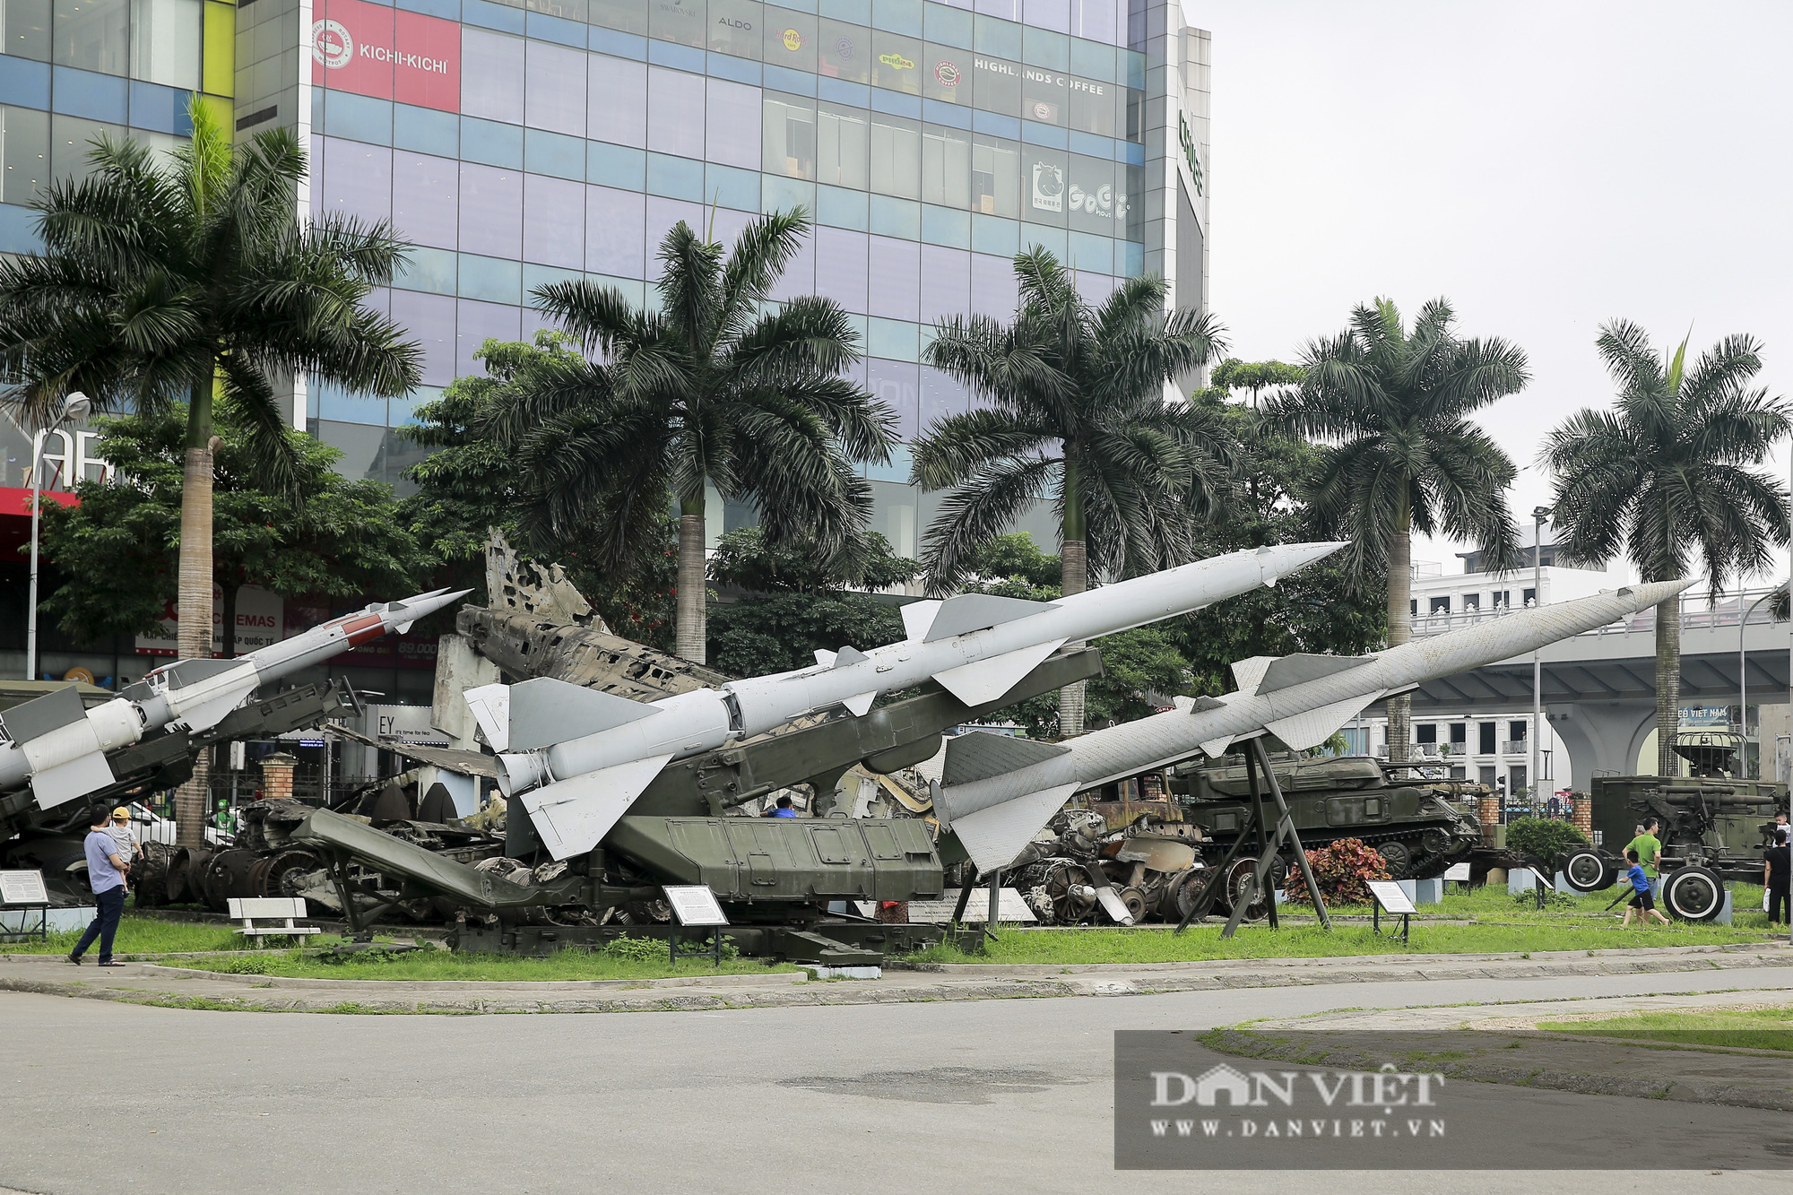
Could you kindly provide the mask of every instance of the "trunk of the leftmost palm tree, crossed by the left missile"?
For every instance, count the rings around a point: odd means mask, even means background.
[[[181,472],[181,562],[176,598],[176,655],[212,659],[212,375],[195,382],[186,407],[186,461]],[[174,791],[176,840],[206,845],[208,752],[194,777]]]

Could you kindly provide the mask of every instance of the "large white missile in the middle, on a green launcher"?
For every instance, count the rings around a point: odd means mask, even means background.
[[[1002,696],[1067,642],[1112,635],[1275,585],[1343,544],[1237,551],[1058,601],[961,594],[902,606],[907,639],[873,651],[818,651],[812,667],[653,703],[538,676],[468,689],[498,752],[498,784],[520,798],[556,859],[593,849],[667,763],[880,693],[934,680],[966,705]]]

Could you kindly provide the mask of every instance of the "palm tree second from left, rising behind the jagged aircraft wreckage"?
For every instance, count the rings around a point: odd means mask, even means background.
[[[601,569],[629,571],[678,501],[678,653],[705,662],[705,486],[744,499],[769,544],[850,551],[871,513],[853,467],[888,461],[895,418],[841,377],[852,318],[816,296],[767,310],[796,255],[801,208],[751,222],[733,251],[680,221],[660,244],[660,310],[588,280],[534,291],[593,361],[520,379],[502,434],[531,475],[524,511],[549,547],[574,533]]]

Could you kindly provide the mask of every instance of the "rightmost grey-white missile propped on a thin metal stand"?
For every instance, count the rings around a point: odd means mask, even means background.
[[[1693,583],[1632,585],[1535,606],[1373,655],[1252,657],[1232,666],[1234,693],[1176,698],[1173,711],[1069,743],[961,734],[947,743],[934,813],[981,872],[1008,867],[1074,793],[1196,752],[1217,757],[1266,732],[1291,750],[1320,746],[1382,698],[1596,630]]]

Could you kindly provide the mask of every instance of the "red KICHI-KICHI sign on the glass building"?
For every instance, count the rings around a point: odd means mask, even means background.
[[[312,9],[312,83],[461,111],[461,25],[362,0]]]

